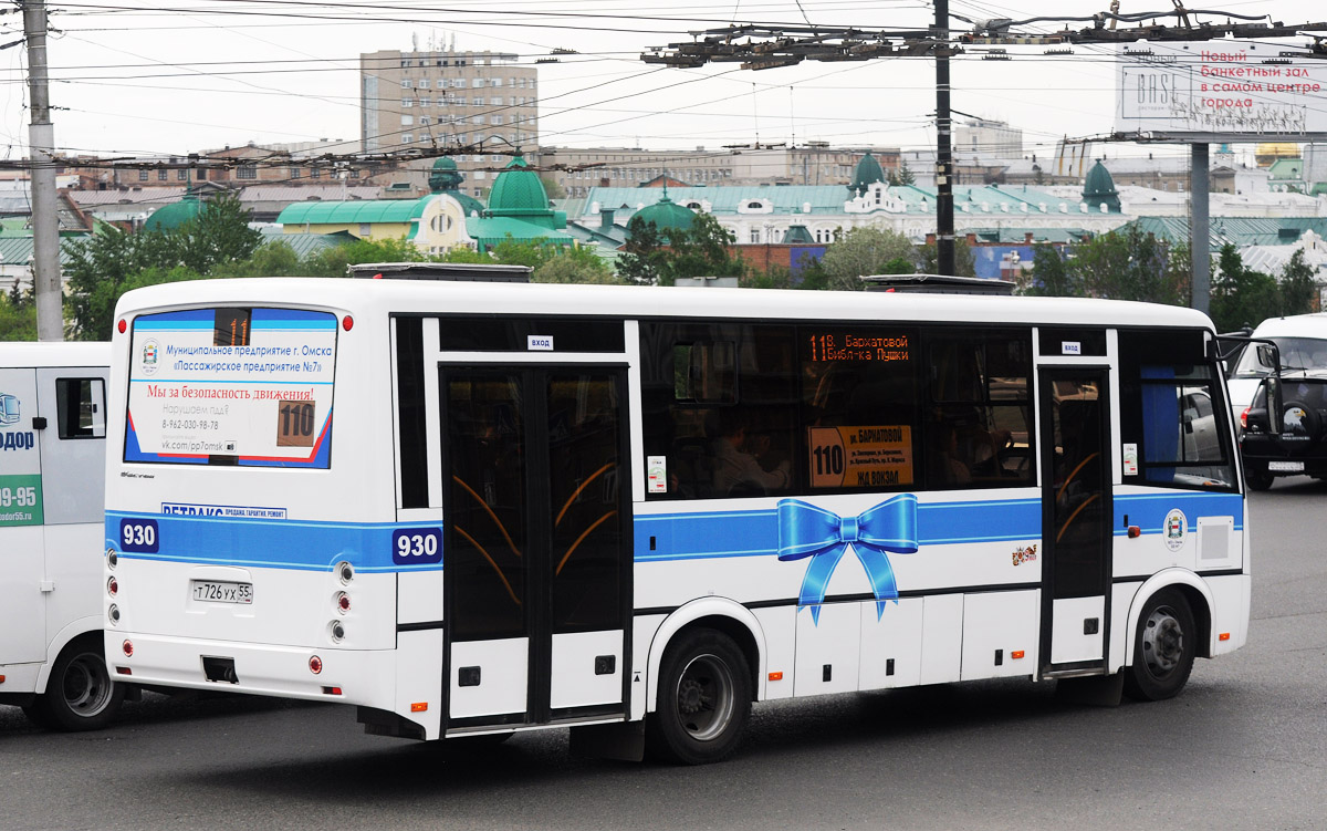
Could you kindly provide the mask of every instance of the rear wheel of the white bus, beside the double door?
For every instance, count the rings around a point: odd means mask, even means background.
[[[751,670],[742,650],[723,633],[695,629],[664,653],[646,746],[673,762],[718,762],[736,749],[750,714]]]

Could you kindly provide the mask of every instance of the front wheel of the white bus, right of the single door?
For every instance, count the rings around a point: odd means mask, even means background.
[[[1143,607],[1133,639],[1133,665],[1124,674],[1124,692],[1140,701],[1173,698],[1193,672],[1198,628],[1184,595],[1160,591]]]

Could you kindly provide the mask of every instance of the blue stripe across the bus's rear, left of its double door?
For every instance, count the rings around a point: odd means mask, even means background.
[[[154,554],[119,556],[199,566],[240,566],[332,571],[346,560],[356,571],[437,571],[442,563],[401,566],[393,562],[393,532],[437,528],[438,523],[354,523],[291,519],[235,519],[171,514],[106,512],[106,546],[122,551],[119,522],[157,523]]]

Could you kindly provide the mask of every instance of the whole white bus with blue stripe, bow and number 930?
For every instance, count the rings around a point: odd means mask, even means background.
[[[1245,641],[1189,309],[228,280],[125,295],[113,346],[106,650],[138,682],[706,762],[752,701],[1154,700]]]

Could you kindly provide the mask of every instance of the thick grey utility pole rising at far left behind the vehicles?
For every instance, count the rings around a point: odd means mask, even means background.
[[[24,0],[23,36],[28,42],[28,102],[32,121],[28,147],[32,162],[32,281],[37,296],[37,340],[64,340],[65,320],[60,283],[60,219],[56,214],[56,130],[50,123],[46,76],[46,3]]]

